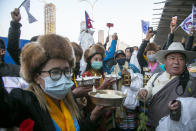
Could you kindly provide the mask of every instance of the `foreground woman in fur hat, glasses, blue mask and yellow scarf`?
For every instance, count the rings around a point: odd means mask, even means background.
[[[27,44],[21,53],[21,74],[29,88],[8,94],[0,87],[0,127],[19,126],[30,118],[34,131],[95,130],[93,121],[102,108],[96,107],[86,121],[80,120],[71,92],[74,61],[71,44],[61,36],[44,35]]]

